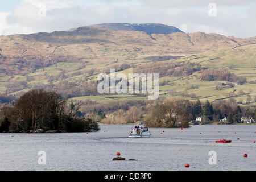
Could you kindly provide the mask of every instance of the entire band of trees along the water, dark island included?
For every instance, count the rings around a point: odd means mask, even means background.
[[[230,124],[241,122],[242,117],[256,121],[256,108],[230,101],[201,102],[164,97],[102,104],[90,100],[68,102],[56,92],[35,89],[23,94],[14,104],[2,106],[0,115],[0,131],[7,131],[6,126],[11,132],[37,129],[88,131],[93,129],[88,127],[96,122],[127,124],[144,121],[148,127],[188,127],[198,117],[202,118],[203,124],[220,122],[223,118]]]

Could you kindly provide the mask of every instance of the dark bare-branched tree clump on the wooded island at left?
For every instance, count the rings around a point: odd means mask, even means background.
[[[99,130],[92,119],[80,117],[80,102],[68,103],[56,92],[33,89],[14,104],[1,107],[0,132],[83,132]]]

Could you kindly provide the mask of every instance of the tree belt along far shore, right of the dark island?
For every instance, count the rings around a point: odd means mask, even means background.
[[[86,101],[88,102],[88,101]],[[230,101],[201,102],[183,99],[159,98],[159,100],[121,100],[102,104],[89,103],[82,108],[82,113],[94,121],[108,124],[127,124],[144,121],[149,127],[188,127],[201,117],[201,123],[241,122],[241,118],[254,118],[255,106],[240,106]]]

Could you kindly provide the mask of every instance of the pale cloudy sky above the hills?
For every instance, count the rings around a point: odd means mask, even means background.
[[[162,23],[184,32],[256,36],[255,0],[1,0],[0,35],[98,23]]]

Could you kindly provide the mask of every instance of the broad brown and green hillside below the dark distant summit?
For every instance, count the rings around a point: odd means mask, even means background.
[[[163,30],[165,31],[165,30]],[[0,92],[19,96],[31,88],[57,90],[68,98],[96,102],[143,99],[146,96],[98,96],[99,73],[116,68],[130,73],[147,64],[199,64],[201,69],[185,76],[160,77],[160,97],[188,100],[253,102],[256,83],[256,37],[234,38],[195,32],[151,34],[134,30],[91,27],[30,35],[0,36]],[[216,82],[201,81],[205,69],[227,69],[246,77],[247,83],[216,89]],[[189,87],[192,86],[192,87]],[[242,90],[244,93],[238,94]]]

